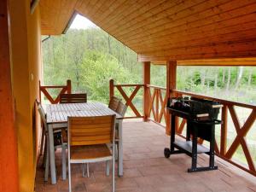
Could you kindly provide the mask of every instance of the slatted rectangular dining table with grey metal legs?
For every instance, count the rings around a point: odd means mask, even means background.
[[[67,104],[49,104],[46,106],[47,124],[49,128],[49,163],[51,183],[56,183],[55,171],[55,147],[54,130],[60,127],[67,127],[67,117],[93,117],[116,114],[116,121],[119,123],[119,176],[123,176],[123,140],[122,120],[119,113],[115,113],[101,102],[83,102]]]

